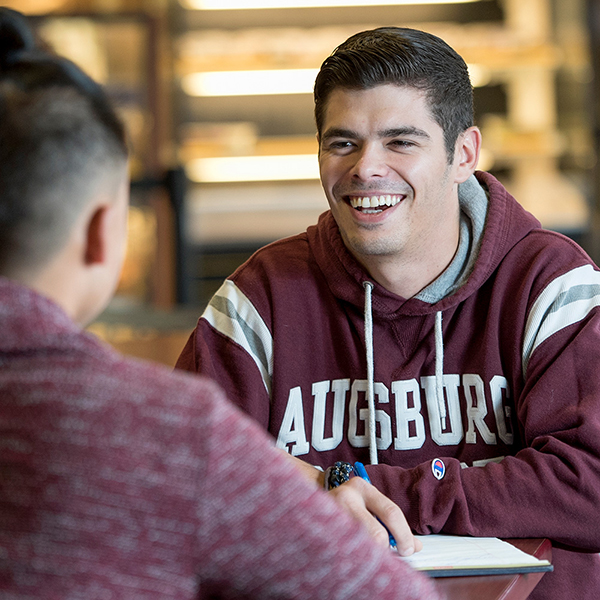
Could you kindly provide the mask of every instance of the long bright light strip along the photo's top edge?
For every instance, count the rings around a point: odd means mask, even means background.
[[[196,10],[235,10],[249,8],[321,8],[335,6],[398,6],[401,4],[462,4],[478,0],[180,0]]]

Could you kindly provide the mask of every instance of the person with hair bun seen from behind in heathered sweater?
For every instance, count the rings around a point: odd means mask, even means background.
[[[437,600],[215,383],[82,330],[117,282],[127,156],[102,87],[0,8],[0,597]]]

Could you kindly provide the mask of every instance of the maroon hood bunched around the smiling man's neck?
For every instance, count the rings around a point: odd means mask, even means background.
[[[332,293],[340,300],[362,309],[365,301],[363,285],[365,281],[371,281],[373,314],[384,319],[394,319],[399,314],[420,315],[445,310],[470,296],[493,273],[515,244],[532,230],[541,227],[540,222],[527,212],[495,177],[481,171],[477,172],[475,177],[487,192],[489,204],[480,243],[472,245],[472,252],[475,252],[476,256],[468,257],[473,263],[472,270],[463,285],[434,303],[419,299],[419,294],[407,299],[389,292],[373,281],[350,254],[331,211],[327,211],[321,215],[317,225],[308,229],[307,234],[315,260]],[[440,277],[442,276],[443,274]]]

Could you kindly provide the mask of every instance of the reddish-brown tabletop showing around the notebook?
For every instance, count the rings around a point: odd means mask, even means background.
[[[508,539],[513,546],[541,560],[552,560],[552,544],[546,539]],[[448,600],[525,600],[545,573],[442,577],[435,583]]]

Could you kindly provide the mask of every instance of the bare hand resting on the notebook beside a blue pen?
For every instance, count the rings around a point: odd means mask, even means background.
[[[377,543],[387,546],[389,537],[385,527],[375,517],[379,517],[396,538],[400,556],[410,556],[423,548],[412,534],[400,508],[364,479],[353,477],[328,493],[363,523]]]

